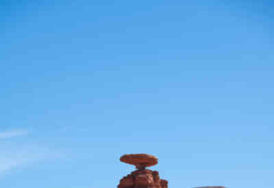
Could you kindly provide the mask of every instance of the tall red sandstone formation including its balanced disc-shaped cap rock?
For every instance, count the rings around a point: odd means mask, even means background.
[[[160,179],[158,171],[145,169],[155,165],[158,159],[152,155],[123,155],[120,159],[125,163],[136,165],[137,170],[120,180],[118,188],[167,188],[168,181]]]

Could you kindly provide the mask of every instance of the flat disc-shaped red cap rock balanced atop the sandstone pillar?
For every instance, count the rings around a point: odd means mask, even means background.
[[[158,159],[153,155],[147,154],[129,154],[123,155],[120,158],[120,161],[123,163],[136,165],[137,168],[140,167],[150,167],[158,163]]]

